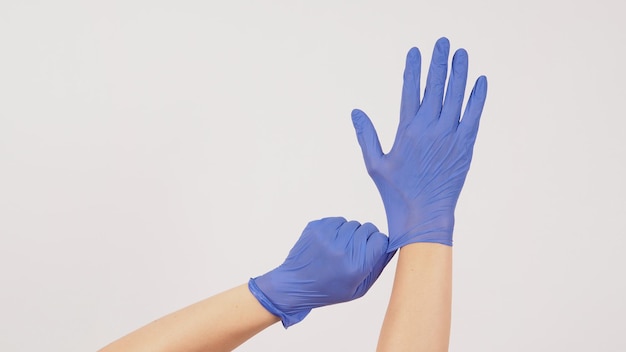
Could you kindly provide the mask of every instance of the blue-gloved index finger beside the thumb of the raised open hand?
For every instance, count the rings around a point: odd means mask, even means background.
[[[396,136],[400,135],[400,131],[413,120],[419,109],[421,66],[422,56],[419,49],[411,48],[406,56],[400,101],[400,124]]]

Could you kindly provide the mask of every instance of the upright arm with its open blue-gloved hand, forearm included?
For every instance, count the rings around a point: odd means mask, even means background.
[[[448,350],[454,211],[487,96],[487,78],[480,76],[463,111],[468,54],[456,50],[448,70],[449,54],[448,39],[437,40],[422,99],[421,54],[409,50],[398,132],[387,154],[371,119],[352,112],[366,169],[385,206],[388,250],[400,252],[380,352]]]

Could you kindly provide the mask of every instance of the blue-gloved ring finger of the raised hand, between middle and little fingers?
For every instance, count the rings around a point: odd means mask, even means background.
[[[467,52],[464,49],[459,49],[454,53],[446,98],[439,118],[439,124],[445,130],[456,129],[461,118],[467,82],[467,61]]]

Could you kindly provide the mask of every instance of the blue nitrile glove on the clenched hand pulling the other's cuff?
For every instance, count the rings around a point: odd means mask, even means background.
[[[387,236],[370,223],[341,217],[312,221],[285,262],[250,279],[248,287],[287,328],[313,308],[363,296],[393,256],[387,244]]]

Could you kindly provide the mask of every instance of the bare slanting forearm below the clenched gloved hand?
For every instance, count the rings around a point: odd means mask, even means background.
[[[243,284],[157,319],[100,352],[232,351],[278,321]]]

